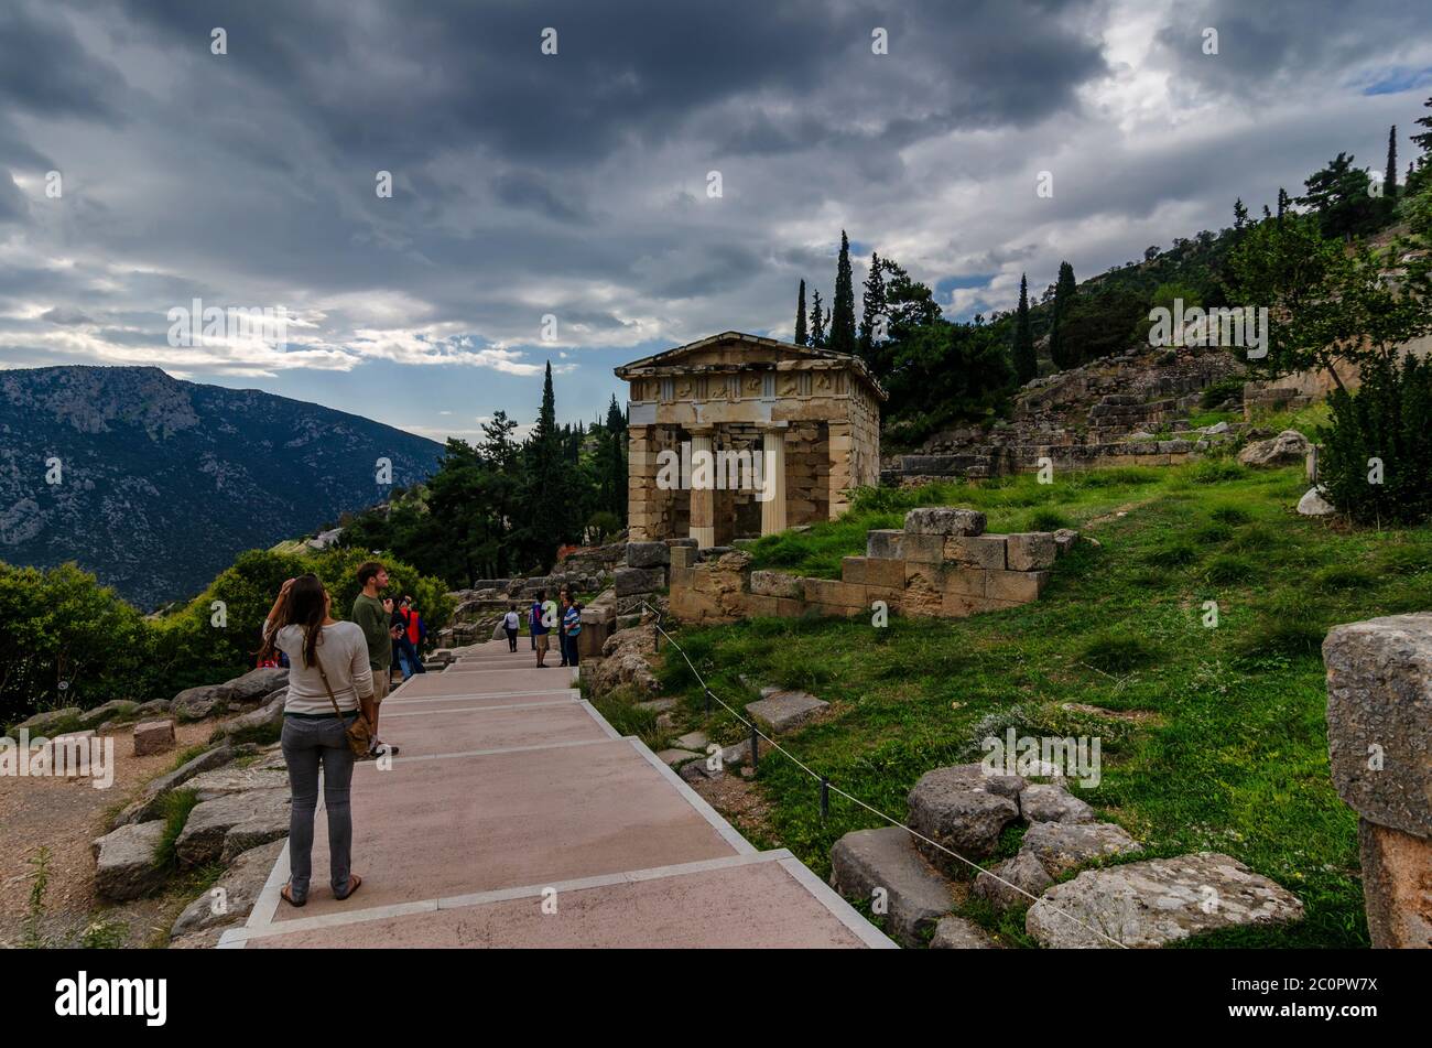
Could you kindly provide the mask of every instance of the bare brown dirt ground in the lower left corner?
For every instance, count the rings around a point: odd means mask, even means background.
[[[122,807],[139,786],[173,767],[183,749],[203,743],[215,722],[178,724],[176,749],[145,757],[133,755],[132,726],[115,739],[115,782],[95,789],[90,779],[0,776],[0,946],[20,942],[29,909],[34,866],[29,862],[49,846],[49,886],[44,892],[42,933],[69,939],[96,921],[123,925],[123,945],[145,946],[168,933],[183,906],[182,889],[123,905],[95,899],[95,858],[90,842],[106,832],[106,812]]]

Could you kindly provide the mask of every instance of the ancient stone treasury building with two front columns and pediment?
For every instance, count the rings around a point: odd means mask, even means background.
[[[879,482],[886,394],[855,356],[727,331],[616,374],[633,541],[726,545],[832,520]]]

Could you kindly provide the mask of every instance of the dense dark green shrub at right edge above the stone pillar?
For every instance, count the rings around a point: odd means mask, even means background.
[[[1327,500],[1359,523],[1432,517],[1432,362],[1379,356],[1363,364],[1356,394],[1336,389],[1329,405],[1317,460]]]

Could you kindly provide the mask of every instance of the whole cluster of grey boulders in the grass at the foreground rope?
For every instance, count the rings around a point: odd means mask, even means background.
[[[1020,822],[1027,830],[1018,853],[977,872],[969,863],[988,859],[1004,830]],[[909,793],[908,826],[915,833],[901,826],[855,830],[831,850],[832,888],[849,899],[879,898],[886,931],[904,946],[921,945],[929,928],[932,948],[994,945],[978,926],[948,916],[965,892],[997,909],[1028,906],[1025,931],[1044,946],[1163,946],[1303,915],[1287,891],[1209,852],[1123,862],[1057,883],[1081,866],[1143,850],[1123,828],[1095,822],[1061,776],[1035,783],[990,775],[981,765],[937,767]]]

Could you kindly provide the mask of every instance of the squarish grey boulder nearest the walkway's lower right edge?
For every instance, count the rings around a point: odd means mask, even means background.
[[[836,840],[831,888],[872,905],[876,889],[884,889],[885,926],[902,946],[918,946],[921,929],[955,905],[949,882],[919,856],[914,838],[899,826],[853,830]]]

